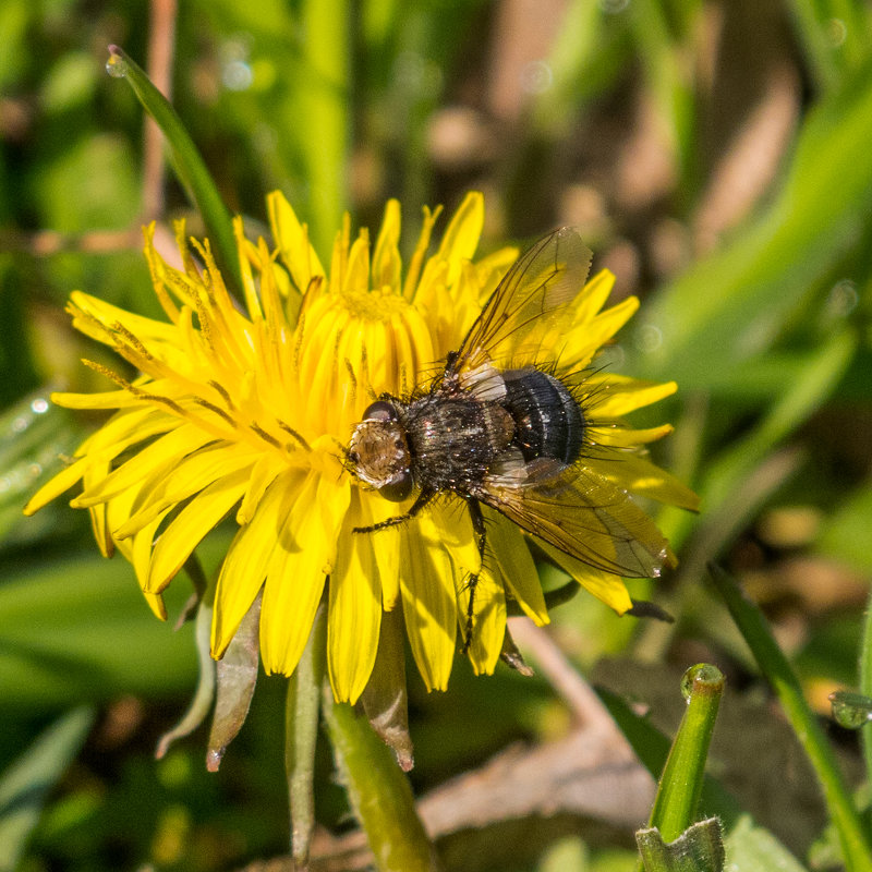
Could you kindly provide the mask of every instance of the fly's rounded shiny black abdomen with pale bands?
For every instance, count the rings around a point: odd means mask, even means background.
[[[511,370],[502,378],[502,404],[516,426],[512,443],[524,460],[554,458],[573,463],[581,452],[584,417],[567,387],[538,370]]]

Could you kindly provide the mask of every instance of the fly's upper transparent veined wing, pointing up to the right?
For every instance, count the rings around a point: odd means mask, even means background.
[[[546,327],[584,286],[591,250],[570,227],[555,230],[522,254],[499,282],[446,367],[446,374],[497,366],[537,325]]]

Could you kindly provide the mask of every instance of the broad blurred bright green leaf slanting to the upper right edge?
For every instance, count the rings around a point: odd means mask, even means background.
[[[662,338],[643,361],[682,390],[768,349],[808,299],[861,244],[872,216],[872,63],[809,116],[773,206],[653,302],[637,329]],[[713,365],[716,363],[716,365]]]

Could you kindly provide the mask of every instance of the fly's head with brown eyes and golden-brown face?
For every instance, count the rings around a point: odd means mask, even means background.
[[[373,403],[354,427],[348,447],[353,473],[386,499],[401,501],[412,489],[411,455],[396,407]]]

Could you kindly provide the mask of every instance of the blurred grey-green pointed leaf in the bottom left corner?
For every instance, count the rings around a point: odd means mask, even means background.
[[[17,868],[46,796],[78,752],[93,723],[90,708],[74,708],[46,729],[0,776],[0,872]]]

